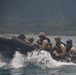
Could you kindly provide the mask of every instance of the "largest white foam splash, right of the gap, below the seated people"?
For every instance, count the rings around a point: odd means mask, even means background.
[[[73,63],[66,63],[66,62],[58,62],[54,60],[49,52],[44,50],[42,51],[33,51],[28,53],[27,61],[33,63],[34,65],[40,66],[42,68],[48,67],[56,67],[62,65],[73,65]]]

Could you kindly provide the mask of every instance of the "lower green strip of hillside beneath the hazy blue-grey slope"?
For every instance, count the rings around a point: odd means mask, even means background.
[[[32,22],[1,22],[0,32],[38,34],[44,31],[50,35],[76,35],[76,20],[47,20]]]

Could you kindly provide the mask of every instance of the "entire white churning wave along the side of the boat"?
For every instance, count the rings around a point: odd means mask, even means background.
[[[0,60],[0,67],[3,67],[7,64],[9,64],[10,68],[27,67],[30,64],[41,68],[52,68],[63,65],[75,65],[73,63],[58,62],[51,57],[49,52],[44,50],[34,50],[32,52],[28,52],[27,55],[23,55],[17,51],[10,63],[6,63]]]

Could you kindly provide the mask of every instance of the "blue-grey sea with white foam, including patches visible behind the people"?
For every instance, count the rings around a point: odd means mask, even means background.
[[[17,35],[10,35],[17,36]],[[26,37],[30,36],[25,35]],[[37,35],[34,43],[38,39]],[[47,36],[50,38],[52,45],[55,44],[55,36]],[[62,41],[67,39],[73,40],[73,46],[76,48],[76,36],[61,36]],[[16,52],[14,58],[9,62],[2,62],[0,57],[0,75],[76,75],[76,64],[58,62],[52,59],[49,52],[32,51],[27,55]]]

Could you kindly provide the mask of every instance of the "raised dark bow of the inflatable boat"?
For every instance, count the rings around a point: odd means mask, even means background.
[[[13,58],[16,51],[27,54],[34,50],[34,46],[27,41],[23,41],[17,37],[0,34],[0,53],[6,58]]]

